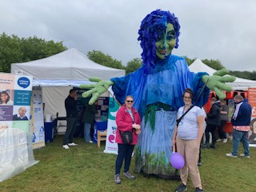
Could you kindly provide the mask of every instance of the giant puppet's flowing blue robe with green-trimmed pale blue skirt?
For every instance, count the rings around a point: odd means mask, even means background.
[[[178,108],[184,105],[183,91],[194,90],[194,100],[204,86],[202,76],[206,73],[190,72],[184,58],[170,54],[166,59],[155,62],[154,73],[145,74],[142,66],[134,73],[122,78],[111,78],[112,87],[118,102],[124,103],[126,95],[133,95],[134,107],[142,118],[142,133],[138,135],[135,152],[135,172],[145,174],[173,175],[170,166],[172,137]],[[209,89],[202,91],[197,106],[203,106],[209,97]],[[158,105],[169,106],[166,110]],[[154,127],[150,125],[148,106],[156,106]],[[159,107],[158,107],[159,106]],[[152,119],[151,119],[152,120]]]

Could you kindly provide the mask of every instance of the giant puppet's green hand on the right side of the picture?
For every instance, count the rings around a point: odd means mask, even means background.
[[[226,90],[230,92],[232,90],[232,86],[226,85],[225,82],[234,82],[235,77],[229,74],[229,70],[226,68],[222,70],[216,71],[213,76],[204,75],[202,76],[202,81],[204,83],[207,82],[206,86],[210,90],[214,90],[214,92],[218,95],[218,98],[224,99],[226,98],[226,94],[222,90]]]

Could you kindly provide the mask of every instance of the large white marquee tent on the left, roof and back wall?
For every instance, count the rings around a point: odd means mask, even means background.
[[[11,73],[32,76],[33,86],[43,86],[45,114],[54,116],[58,112],[59,116],[66,116],[64,100],[69,94],[70,86],[78,87],[83,83],[88,84],[90,77],[102,78],[105,81],[122,77],[125,75],[125,70],[99,65],[78,50],[71,48],[48,58],[13,63]]]

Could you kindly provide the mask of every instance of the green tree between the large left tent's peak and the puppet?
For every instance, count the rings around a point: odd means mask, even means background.
[[[100,50],[92,50],[88,51],[87,57],[90,58],[90,60],[97,62],[98,64],[102,66],[109,66],[115,69],[125,69],[124,66],[122,66],[122,62],[118,61],[117,59],[112,58],[108,54],[103,54]]]

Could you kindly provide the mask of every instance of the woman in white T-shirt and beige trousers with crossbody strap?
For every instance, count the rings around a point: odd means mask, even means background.
[[[194,95],[190,88],[184,90],[183,101],[185,106],[178,109],[177,118],[186,113],[192,106]],[[203,191],[201,178],[198,170],[198,153],[203,134],[203,112],[198,106],[193,106],[187,114],[184,115],[178,126],[175,126],[173,146],[177,146],[177,151],[182,154],[185,160],[185,165],[180,170],[182,184],[178,186],[176,192],[187,190],[186,182],[188,174],[196,188],[195,191]]]

